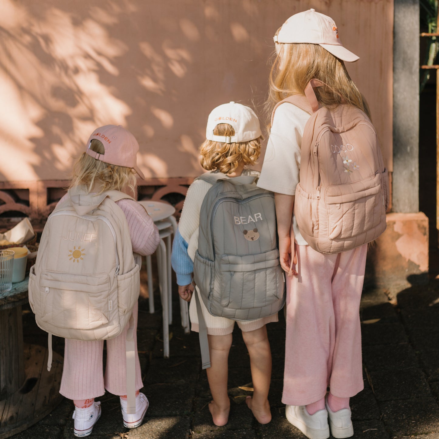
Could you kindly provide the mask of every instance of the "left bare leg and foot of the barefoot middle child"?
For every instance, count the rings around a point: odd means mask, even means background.
[[[211,366],[206,369],[212,402],[209,410],[215,425],[226,425],[229,420],[230,399],[227,394],[228,358],[232,335],[208,335]]]

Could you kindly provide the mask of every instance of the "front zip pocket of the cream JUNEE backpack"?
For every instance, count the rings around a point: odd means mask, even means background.
[[[97,329],[108,323],[107,273],[44,271],[40,278],[43,322],[66,329]],[[56,335],[56,334],[55,334]]]

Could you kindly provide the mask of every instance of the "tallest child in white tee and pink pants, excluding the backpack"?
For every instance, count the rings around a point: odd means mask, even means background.
[[[301,236],[293,208],[310,114],[279,103],[305,95],[317,79],[324,83],[316,90],[320,106],[348,103],[370,114],[343,62],[359,58],[342,46],[332,18],[314,9],[300,12],[274,41],[267,104],[275,112],[258,186],[275,192],[281,266],[289,273],[282,402],[288,421],[307,437],[325,439],[331,427],[334,437],[345,438],[353,435],[349,398],[363,389],[359,306],[367,244],[323,254]]]

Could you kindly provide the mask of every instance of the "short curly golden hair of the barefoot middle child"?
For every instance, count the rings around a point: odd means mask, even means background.
[[[215,136],[234,136],[235,130],[228,123],[220,123],[213,130]],[[223,143],[205,140],[200,146],[201,166],[208,170],[219,170],[224,174],[233,173],[240,162],[253,166],[261,153],[263,136],[249,142]]]

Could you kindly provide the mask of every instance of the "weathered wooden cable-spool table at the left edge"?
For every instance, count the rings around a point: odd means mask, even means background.
[[[22,305],[28,301],[28,281],[0,293],[0,439],[25,430],[49,414],[61,401],[63,358],[53,353],[47,371],[47,348],[23,343]]]

